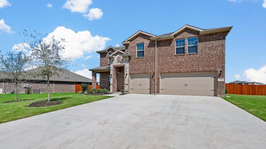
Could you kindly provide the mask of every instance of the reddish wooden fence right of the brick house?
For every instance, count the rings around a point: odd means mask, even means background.
[[[226,84],[228,94],[266,95],[266,85]]]

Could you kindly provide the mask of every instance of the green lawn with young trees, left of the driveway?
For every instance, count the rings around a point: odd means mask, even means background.
[[[19,94],[18,100],[32,100],[12,103],[3,102],[14,100],[15,94],[0,94],[0,123],[5,123],[110,97],[111,96],[88,96],[80,95],[77,93],[51,93],[51,100],[60,100],[63,103],[49,107],[27,107],[32,102],[47,100],[47,94]]]

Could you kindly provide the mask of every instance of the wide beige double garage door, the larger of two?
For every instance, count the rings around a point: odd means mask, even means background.
[[[172,95],[216,95],[216,73],[161,74],[160,93]]]

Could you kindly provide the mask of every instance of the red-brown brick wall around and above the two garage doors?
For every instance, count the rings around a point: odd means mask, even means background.
[[[198,53],[187,53],[187,38],[198,37]],[[217,72],[217,77],[225,77],[225,32],[199,35],[199,31],[185,29],[174,36],[174,39],[157,42],[157,90],[160,92],[160,73],[179,72]],[[185,55],[175,55],[175,40],[186,39]],[[144,58],[136,58],[136,44],[144,43]],[[130,74],[154,73],[155,42],[148,36],[139,34],[126,46],[131,60]],[[154,77],[151,81],[151,92],[154,93]],[[218,95],[224,95],[225,82],[218,82]]]

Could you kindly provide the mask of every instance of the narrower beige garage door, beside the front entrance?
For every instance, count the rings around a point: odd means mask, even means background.
[[[151,74],[130,74],[130,93],[150,94]]]

